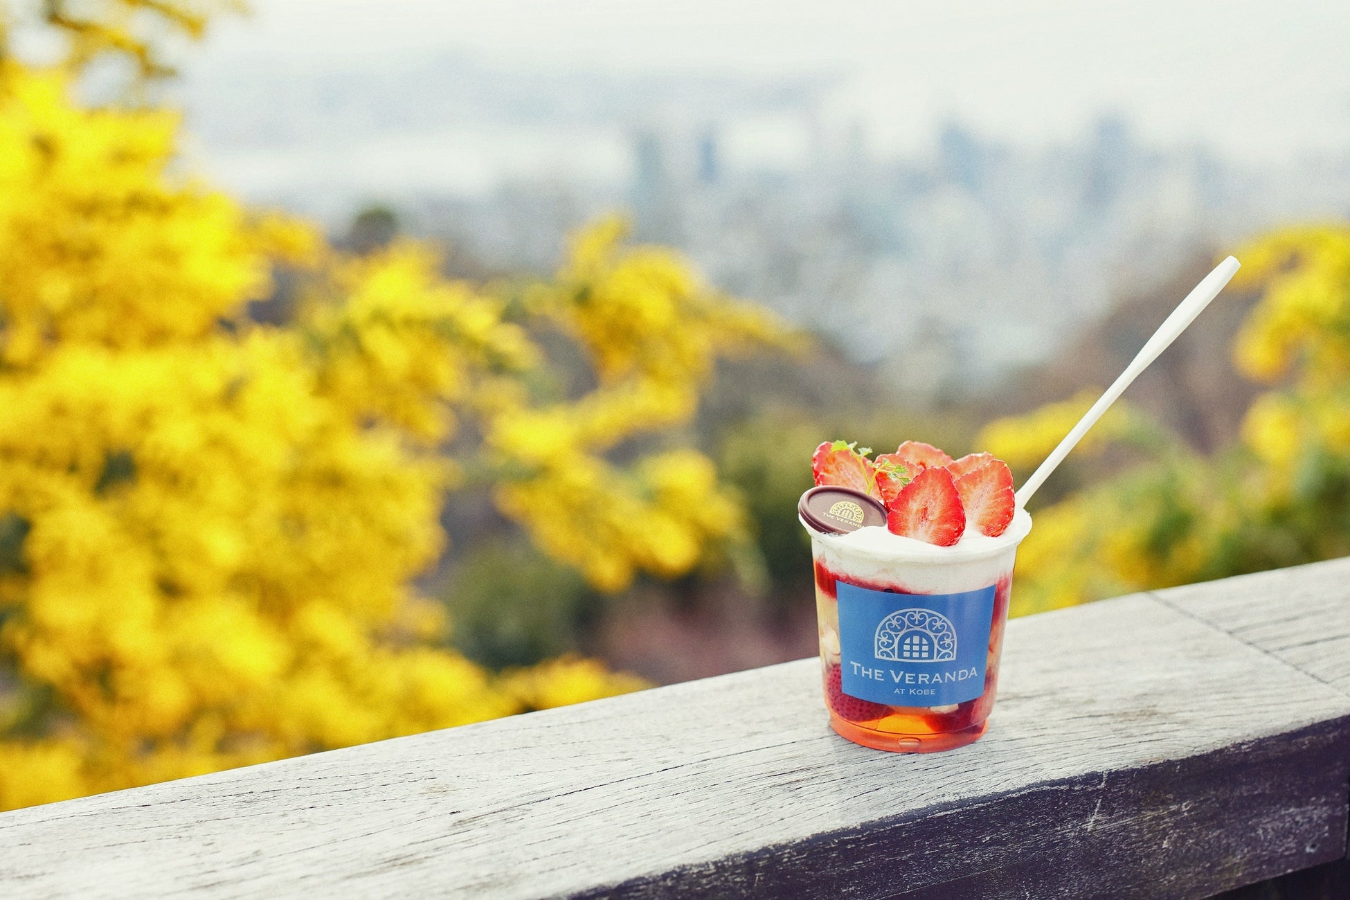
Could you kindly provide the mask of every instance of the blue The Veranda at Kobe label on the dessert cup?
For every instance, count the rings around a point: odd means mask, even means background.
[[[844,694],[887,706],[948,706],[984,694],[994,586],[896,594],[838,582]]]

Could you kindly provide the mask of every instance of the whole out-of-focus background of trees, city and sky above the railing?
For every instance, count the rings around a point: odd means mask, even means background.
[[[1350,552],[1336,3],[0,4],[0,806],[815,652],[822,440],[1014,614]]]

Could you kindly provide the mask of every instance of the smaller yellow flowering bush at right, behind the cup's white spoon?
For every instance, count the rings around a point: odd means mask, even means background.
[[[1235,287],[1262,293],[1234,359],[1269,386],[1241,440],[1204,456],[1137,410],[1104,421],[1076,453],[1126,443],[1143,461],[1033,510],[1015,611],[1350,553],[1350,227],[1284,229],[1238,256]],[[980,445],[1030,467],[1094,395],[992,422]]]

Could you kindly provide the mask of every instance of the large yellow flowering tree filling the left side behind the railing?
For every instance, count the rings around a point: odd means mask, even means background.
[[[47,4],[70,65],[0,59],[0,807],[637,687],[447,650],[413,587],[443,497],[493,484],[603,590],[687,571],[741,510],[679,429],[775,322],[617,223],[509,291],[417,243],[344,258],[173,175],[174,115],[70,101],[101,51],[155,69],[136,16],[204,4],[78,8]],[[281,264],[296,312],[267,325]],[[545,332],[590,389],[559,387]]]

